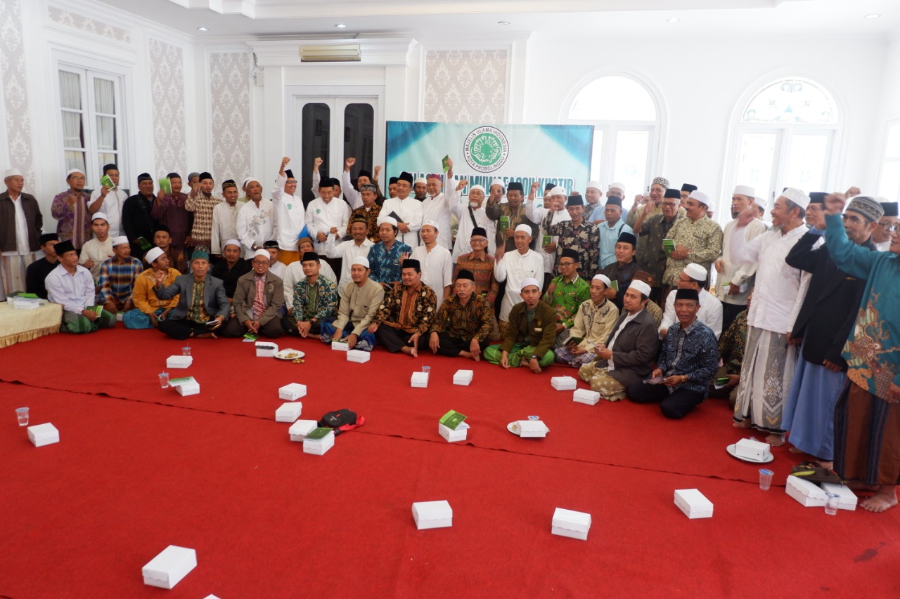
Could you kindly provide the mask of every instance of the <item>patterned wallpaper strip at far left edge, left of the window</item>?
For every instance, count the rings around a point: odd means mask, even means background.
[[[25,50],[22,31],[22,0],[0,2],[0,72],[3,91],[6,139],[11,165],[22,171],[26,189],[34,185],[31,151],[31,119],[25,87]],[[5,170],[9,165],[2,165]]]

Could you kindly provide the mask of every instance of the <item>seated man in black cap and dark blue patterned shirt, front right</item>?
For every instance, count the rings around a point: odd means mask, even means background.
[[[678,323],[665,335],[650,384],[629,385],[626,393],[638,404],[658,401],[662,416],[678,419],[706,400],[709,380],[719,367],[719,352],[716,335],[697,317],[702,301],[697,290],[679,289],[671,295]]]

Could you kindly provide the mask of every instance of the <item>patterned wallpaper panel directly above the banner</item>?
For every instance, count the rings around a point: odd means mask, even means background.
[[[428,50],[425,120],[503,122],[509,51]]]

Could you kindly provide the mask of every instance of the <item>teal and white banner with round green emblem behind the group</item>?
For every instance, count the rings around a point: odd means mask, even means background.
[[[584,193],[593,136],[592,125],[388,121],[385,172],[395,177],[409,171],[414,179],[443,174],[441,160],[450,156],[455,178],[467,179],[469,187],[482,185],[490,191],[491,182],[500,179],[504,187],[522,183],[526,196],[535,181],[540,183],[538,197],[547,183]]]

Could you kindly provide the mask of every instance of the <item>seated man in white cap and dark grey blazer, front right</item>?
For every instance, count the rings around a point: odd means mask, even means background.
[[[578,375],[601,398],[618,401],[625,389],[639,383],[653,371],[659,335],[656,322],[647,312],[650,285],[632,281],[622,299],[622,312],[613,325],[606,346],[595,350],[597,362],[581,366]]]

